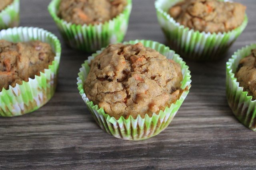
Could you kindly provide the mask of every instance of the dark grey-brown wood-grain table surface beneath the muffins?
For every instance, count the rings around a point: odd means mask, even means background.
[[[237,0],[238,1],[238,0]],[[187,61],[192,88],[171,125],[144,141],[123,141],[102,131],[76,85],[88,55],[68,49],[47,11],[50,0],[21,0],[21,26],[42,27],[62,41],[58,88],[34,113],[0,118],[2,169],[252,169],[256,132],[232,114],[225,97],[225,64],[241,47],[256,42],[256,1],[247,6],[249,23],[225,59]],[[156,20],[154,0],[134,0],[125,40],[166,43]]]

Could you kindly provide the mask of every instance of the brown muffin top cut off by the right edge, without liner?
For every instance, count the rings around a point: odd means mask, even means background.
[[[239,86],[244,87],[244,91],[248,92],[248,96],[256,99],[256,49],[252,50],[252,54],[241,59],[235,74]]]

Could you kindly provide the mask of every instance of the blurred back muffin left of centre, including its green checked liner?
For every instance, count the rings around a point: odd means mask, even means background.
[[[126,34],[132,0],[52,0],[48,10],[66,43],[88,53]]]

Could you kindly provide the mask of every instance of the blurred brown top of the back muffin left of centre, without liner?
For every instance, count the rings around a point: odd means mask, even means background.
[[[115,18],[126,0],[61,0],[58,16],[75,24],[97,24]]]

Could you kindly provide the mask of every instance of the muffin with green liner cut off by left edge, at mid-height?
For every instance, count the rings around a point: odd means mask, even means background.
[[[52,98],[60,51],[58,38],[44,29],[0,31],[0,116],[30,113]]]

